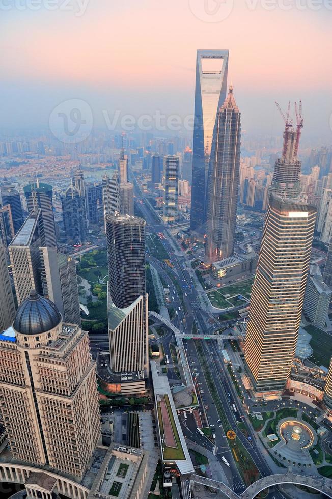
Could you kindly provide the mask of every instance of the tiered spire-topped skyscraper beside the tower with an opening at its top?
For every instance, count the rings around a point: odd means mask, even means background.
[[[234,253],[236,208],[239,188],[241,114],[233,86],[219,109],[216,144],[209,165],[206,209],[206,265]]]

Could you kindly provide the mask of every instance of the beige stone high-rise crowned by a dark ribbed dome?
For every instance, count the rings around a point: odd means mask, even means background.
[[[99,442],[88,334],[31,291],[0,341],[3,424],[15,459],[81,477]]]

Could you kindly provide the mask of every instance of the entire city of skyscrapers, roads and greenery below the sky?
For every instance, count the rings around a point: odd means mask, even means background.
[[[332,497],[332,145],[249,140],[233,64],[192,136],[0,136],[6,497]]]

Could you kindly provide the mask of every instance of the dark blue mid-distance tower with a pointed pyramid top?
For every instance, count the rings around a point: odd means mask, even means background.
[[[87,240],[87,217],[85,198],[71,185],[61,196],[65,234],[68,241],[82,244]]]

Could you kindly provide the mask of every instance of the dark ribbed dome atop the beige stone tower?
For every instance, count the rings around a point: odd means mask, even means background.
[[[57,307],[35,290],[17,309],[13,327],[22,335],[38,335],[56,327],[62,321]]]

